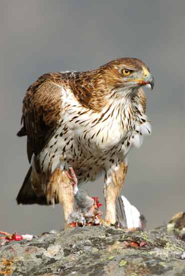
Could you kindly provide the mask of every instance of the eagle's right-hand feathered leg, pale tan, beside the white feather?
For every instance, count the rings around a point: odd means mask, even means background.
[[[105,221],[109,224],[116,222],[116,200],[122,189],[128,164],[124,160],[117,166],[110,167],[105,174],[104,198],[105,198]]]

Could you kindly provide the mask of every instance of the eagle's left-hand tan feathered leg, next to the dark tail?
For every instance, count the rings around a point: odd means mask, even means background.
[[[64,222],[67,224],[68,217],[73,211],[74,195],[71,179],[61,168],[57,168],[50,176],[46,195],[48,202],[54,203],[56,198],[61,203],[64,210]]]

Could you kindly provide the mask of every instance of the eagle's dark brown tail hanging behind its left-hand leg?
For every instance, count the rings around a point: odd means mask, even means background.
[[[30,166],[20,188],[20,191],[16,197],[17,204],[39,204],[39,205],[48,205],[45,195],[37,196],[31,185],[31,171]]]

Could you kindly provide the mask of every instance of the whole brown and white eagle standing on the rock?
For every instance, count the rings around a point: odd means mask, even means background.
[[[74,202],[68,166],[78,184],[104,172],[105,220],[115,224],[127,154],[151,134],[145,85],[153,89],[154,78],[137,58],[118,58],[86,72],[40,76],[23,99],[17,135],[27,136],[30,168],[17,203],[61,203],[68,223]]]

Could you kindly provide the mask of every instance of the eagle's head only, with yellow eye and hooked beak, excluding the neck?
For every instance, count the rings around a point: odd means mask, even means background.
[[[148,66],[137,58],[118,58],[100,67],[106,85],[112,91],[132,91],[147,85],[154,88],[154,78]]]

